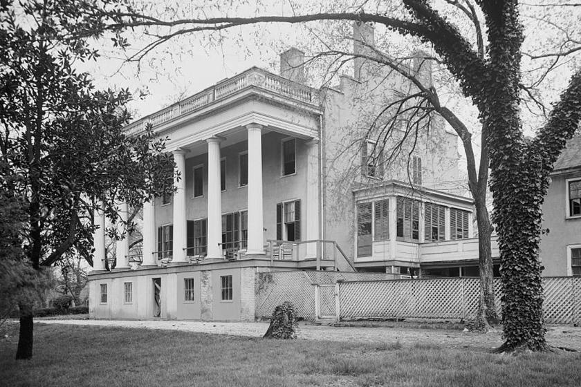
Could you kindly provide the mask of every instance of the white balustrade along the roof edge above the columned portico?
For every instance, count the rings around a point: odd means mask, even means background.
[[[125,126],[124,130],[128,135],[140,133],[145,131],[147,124],[151,124],[154,127],[164,124],[250,87],[261,88],[315,106],[320,104],[320,95],[317,89],[290,81],[261,68],[253,67],[235,77],[225,79],[200,93],[194,94],[192,97],[142,117],[140,120]]]

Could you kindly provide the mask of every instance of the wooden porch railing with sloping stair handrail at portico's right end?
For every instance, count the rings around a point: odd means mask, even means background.
[[[321,269],[322,261],[333,261],[334,270],[356,272],[353,263],[335,240],[273,240],[268,242],[270,263],[274,261],[306,261],[314,259],[317,270]]]

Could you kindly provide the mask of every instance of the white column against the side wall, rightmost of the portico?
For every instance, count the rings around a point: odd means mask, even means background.
[[[302,218],[306,220],[306,240],[320,239],[319,236],[319,140],[306,143],[306,211]],[[304,222],[301,222],[304,225]],[[306,245],[306,256],[317,256],[317,244]]]

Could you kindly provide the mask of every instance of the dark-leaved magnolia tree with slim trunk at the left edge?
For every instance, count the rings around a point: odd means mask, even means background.
[[[83,39],[59,38],[80,22],[80,12],[81,5],[68,1],[0,5],[0,189],[24,214],[15,223],[17,236],[7,237],[21,246],[9,254],[19,263],[11,272],[26,277],[12,279],[22,284],[20,293],[35,286],[30,277],[42,267],[71,253],[92,264],[94,211],[118,221],[116,202],[139,207],[151,200],[168,189],[163,177],[173,168],[165,140],[122,131],[129,92],[95,91],[88,75],[75,70],[75,62],[98,56]],[[17,359],[28,359],[32,304],[17,301]]]

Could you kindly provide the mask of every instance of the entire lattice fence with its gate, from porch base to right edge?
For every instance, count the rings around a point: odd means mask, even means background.
[[[322,316],[335,316],[333,285],[339,283],[340,319],[474,319],[479,279],[386,280],[390,274],[324,271],[259,273],[257,317],[270,317],[276,305],[295,304],[299,317],[315,319],[315,286]],[[495,279],[497,310],[501,312],[501,283]],[[581,277],[543,279],[547,323],[581,323]]]

